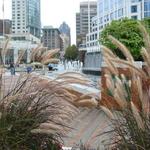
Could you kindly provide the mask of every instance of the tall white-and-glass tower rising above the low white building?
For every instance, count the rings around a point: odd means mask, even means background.
[[[40,0],[12,0],[12,33],[40,37]]]

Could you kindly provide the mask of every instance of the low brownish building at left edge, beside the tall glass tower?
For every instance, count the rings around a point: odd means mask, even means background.
[[[0,19],[0,36],[3,34],[10,34],[10,33],[11,33],[11,20]]]

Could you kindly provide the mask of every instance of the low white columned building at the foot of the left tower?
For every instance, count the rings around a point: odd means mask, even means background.
[[[7,45],[7,53],[3,58],[5,64],[17,63],[22,51],[25,51],[22,62],[29,63],[32,49],[40,44],[39,38],[32,34],[9,34],[10,41]],[[4,47],[6,37],[0,36],[0,50]]]

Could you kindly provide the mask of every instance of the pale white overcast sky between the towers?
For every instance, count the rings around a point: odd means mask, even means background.
[[[0,18],[2,15],[2,1],[0,0]],[[11,0],[5,1],[5,18],[11,19]],[[75,14],[79,11],[81,1],[87,0],[41,0],[42,26],[52,25],[59,27],[65,21],[71,28],[72,44],[76,42]]]

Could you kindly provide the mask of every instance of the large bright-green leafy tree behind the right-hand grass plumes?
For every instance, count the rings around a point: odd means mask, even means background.
[[[142,21],[150,26],[150,19]],[[124,58],[118,48],[108,39],[108,35],[114,36],[123,43],[131,52],[135,60],[141,60],[140,50],[144,46],[143,37],[140,32],[138,21],[133,19],[123,19],[112,21],[101,33],[101,44],[110,48],[120,58]]]

